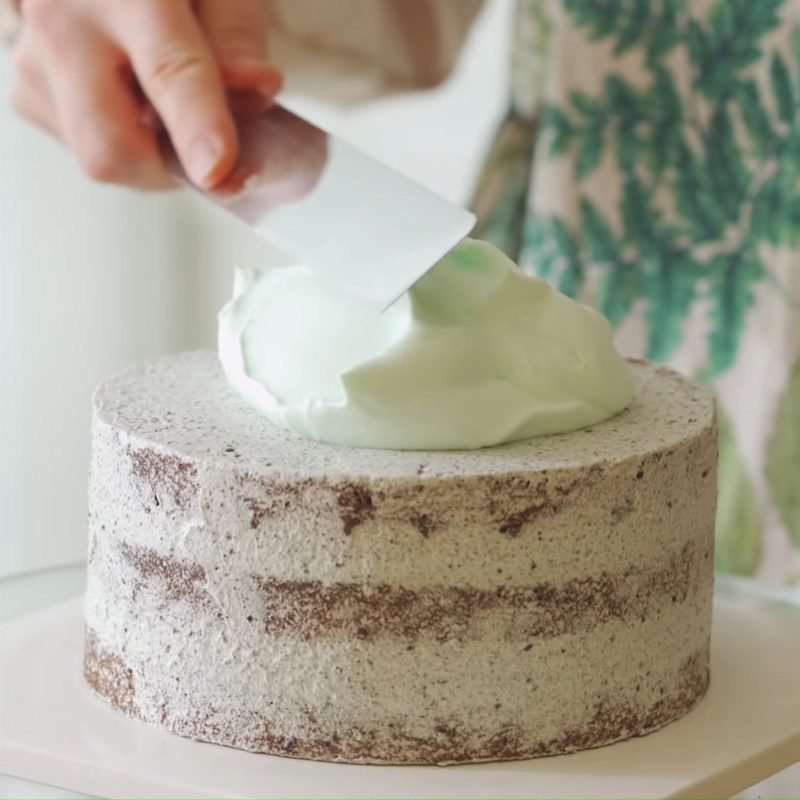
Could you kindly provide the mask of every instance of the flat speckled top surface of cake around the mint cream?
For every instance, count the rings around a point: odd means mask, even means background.
[[[270,423],[228,385],[216,354],[196,351],[134,367],[100,384],[95,417],[151,446],[221,469],[304,477],[429,479],[583,469],[675,447],[714,419],[711,393],[666,367],[632,361],[636,396],[590,428],[483,450],[374,450],[325,444]]]

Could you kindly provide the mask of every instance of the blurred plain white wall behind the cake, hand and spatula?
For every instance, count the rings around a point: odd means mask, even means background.
[[[343,112],[295,108],[458,201],[506,102],[513,0],[492,0],[440,89]],[[0,55],[0,96],[10,60]],[[0,577],[83,559],[90,397],[105,375],[212,346],[240,261],[270,258],[183,196],[82,178],[0,109]]]

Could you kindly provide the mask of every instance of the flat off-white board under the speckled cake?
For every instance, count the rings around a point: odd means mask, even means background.
[[[80,679],[81,601],[0,626],[0,774],[102,797],[730,797],[800,761],[800,603],[718,584],[712,680],[663,731],[583,753],[459,767],[253,755],[127,719]]]

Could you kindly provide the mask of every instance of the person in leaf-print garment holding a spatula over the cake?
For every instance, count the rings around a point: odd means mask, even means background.
[[[166,182],[157,116],[209,186],[236,160],[229,102],[271,102],[281,73],[348,102],[436,85],[480,5],[25,0],[14,105],[90,175],[138,188]],[[795,584],[799,11],[518,0],[510,107],[473,234],[599,307],[622,352],[713,387],[717,565]]]

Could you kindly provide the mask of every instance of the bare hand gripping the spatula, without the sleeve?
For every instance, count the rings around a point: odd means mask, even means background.
[[[100,181],[171,185],[157,115],[190,178],[215,186],[238,155],[229,98],[266,107],[280,89],[265,0],[23,0],[22,12],[12,105]]]

